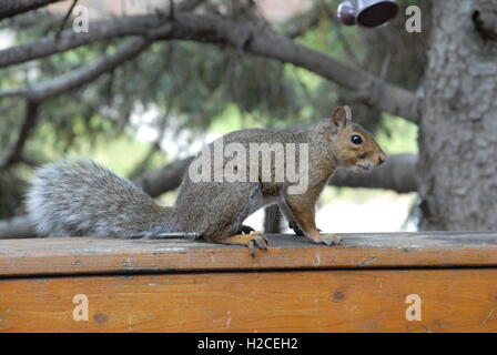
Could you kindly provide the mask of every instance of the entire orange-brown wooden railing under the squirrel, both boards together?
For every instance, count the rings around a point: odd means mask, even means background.
[[[497,233],[342,236],[0,240],[0,332],[497,332]]]

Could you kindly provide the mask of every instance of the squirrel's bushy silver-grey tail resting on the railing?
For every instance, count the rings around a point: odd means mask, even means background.
[[[27,195],[40,235],[140,237],[172,232],[173,211],[131,181],[82,160],[40,168]]]

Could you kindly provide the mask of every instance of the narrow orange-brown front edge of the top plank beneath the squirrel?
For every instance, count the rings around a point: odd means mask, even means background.
[[[315,246],[270,248],[251,257],[245,248],[219,247],[165,253],[71,254],[60,251],[39,255],[0,257],[0,276],[77,275],[115,273],[171,273],[255,271],[284,268],[397,268],[497,267],[497,247],[362,247]]]

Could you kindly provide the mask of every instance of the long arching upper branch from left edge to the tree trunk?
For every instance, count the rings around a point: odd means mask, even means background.
[[[59,42],[43,38],[0,51],[0,67],[19,63],[113,37],[141,34],[151,40],[189,40],[227,44],[305,68],[356,93],[364,103],[417,123],[420,99],[373,74],[298,44],[266,28],[212,14],[176,13],[170,26],[158,16],[125,17],[92,24],[89,33],[63,31]],[[172,29],[172,30],[171,30]],[[13,95],[16,93],[11,93]]]

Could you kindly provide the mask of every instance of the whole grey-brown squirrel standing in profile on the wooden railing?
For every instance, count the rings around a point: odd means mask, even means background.
[[[185,174],[174,205],[160,206],[132,182],[93,162],[62,161],[38,170],[27,195],[30,220],[40,235],[153,237],[190,233],[214,243],[247,246],[254,255],[255,248],[267,248],[267,240],[242,223],[258,209],[277,204],[295,231],[314,243],[334,245],[339,239],[320,233],[315,225],[315,204],[322,190],[338,166],[367,171],[386,159],[373,136],[352,122],[348,106],[336,108],[329,118],[295,133],[250,129],[220,140],[246,148],[251,143],[307,144],[307,187],[288,193],[293,183],[274,179],[275,164],[271,164],[270,181],[261,179],[260,170],[256,181],[246,182],[197,182]],[[240,168],[251,173],[251,166]]]

